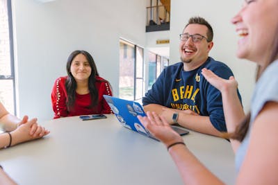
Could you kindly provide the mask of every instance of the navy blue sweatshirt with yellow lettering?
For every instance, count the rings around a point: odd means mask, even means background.
[[[203,68],[210,69],[224,79],[234,76],[226,64],[211,57],[193,71],[183,71],[183,62],[178,62],[163,70],[152,89],[142,98],[142,104],[145,106],[154,103],[172,109],[191,109],[201,116],[209,116],[217,130],[227,132],[221,93],[202,76]],[[238,97],[241,101],[239,92]]]

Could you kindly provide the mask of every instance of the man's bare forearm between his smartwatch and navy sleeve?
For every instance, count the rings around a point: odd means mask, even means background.
[[[190,130],[213,136],[221,136],[221,132],[213,126],[209,116],[195,116],[186,113],[179,113],[177,122],[179,125]]]

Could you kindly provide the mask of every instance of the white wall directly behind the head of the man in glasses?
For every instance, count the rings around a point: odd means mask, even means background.
[[[179,34],[188,19],[193,16],[204,17],[213,27],[214,46],[210,56],[226,63],[238,80],[238,88],[243,98],[245,112],[249,110],[256,66],[252,62],[236,58],[237,39],[231,18],[240,10],[242,1],[223,0],[174,0],[171,1],[170,20],[170,63],[179,62]]]

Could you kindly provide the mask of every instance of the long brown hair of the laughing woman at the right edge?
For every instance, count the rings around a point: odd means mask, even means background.
[[[276,33],[278,33],[278,26],[276,28]],[[275,39],[273,39],[272,44],[270,45],[270,50],[269,50],[269,55],[268,55],[268,59],[265,62],[265,65],[262,66],[257,66],[256,69],[256,81],[259,80],[259,78],[261,77],[261,74],[263,73],[263,71],[265,71],[265,69],[275,60],[277,60],[278,58],[278,35],[275,35]],[[247,134],[247,130],[250,126],[250,118],[251,118],[251,114],[250,112],[247,114],[247,116],[245,117],[245,119],[243,120],[242,123],[240,123],[240,125],[238,125],[238,127],[236,127],[236,130],[234,133],[229,134],[229,138],[230,139],[236,139],[238,141],[243,141],[243,139],[245,138],[245,135]]]

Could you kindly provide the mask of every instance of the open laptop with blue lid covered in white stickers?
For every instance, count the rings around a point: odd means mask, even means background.
[[[142,106],[139,103],[107,95],[104,95],[104,98],[113,110],[115,116],[117,117],[117,120],[120,121],[120,123],[124,125],[124,127],[127,127],[130,130],[133,130],[145,136],[151,137],[152,139],[158,140],[154,136],[152,136],[152,134],[149,133],[149,131],[145,129],[145,127],[138,120],[138,115],[146,116]],[[171,127],[180,135],[189,133],[187,130],[184,130],[181,127],[177,127],[174,125],[171,125]]]

